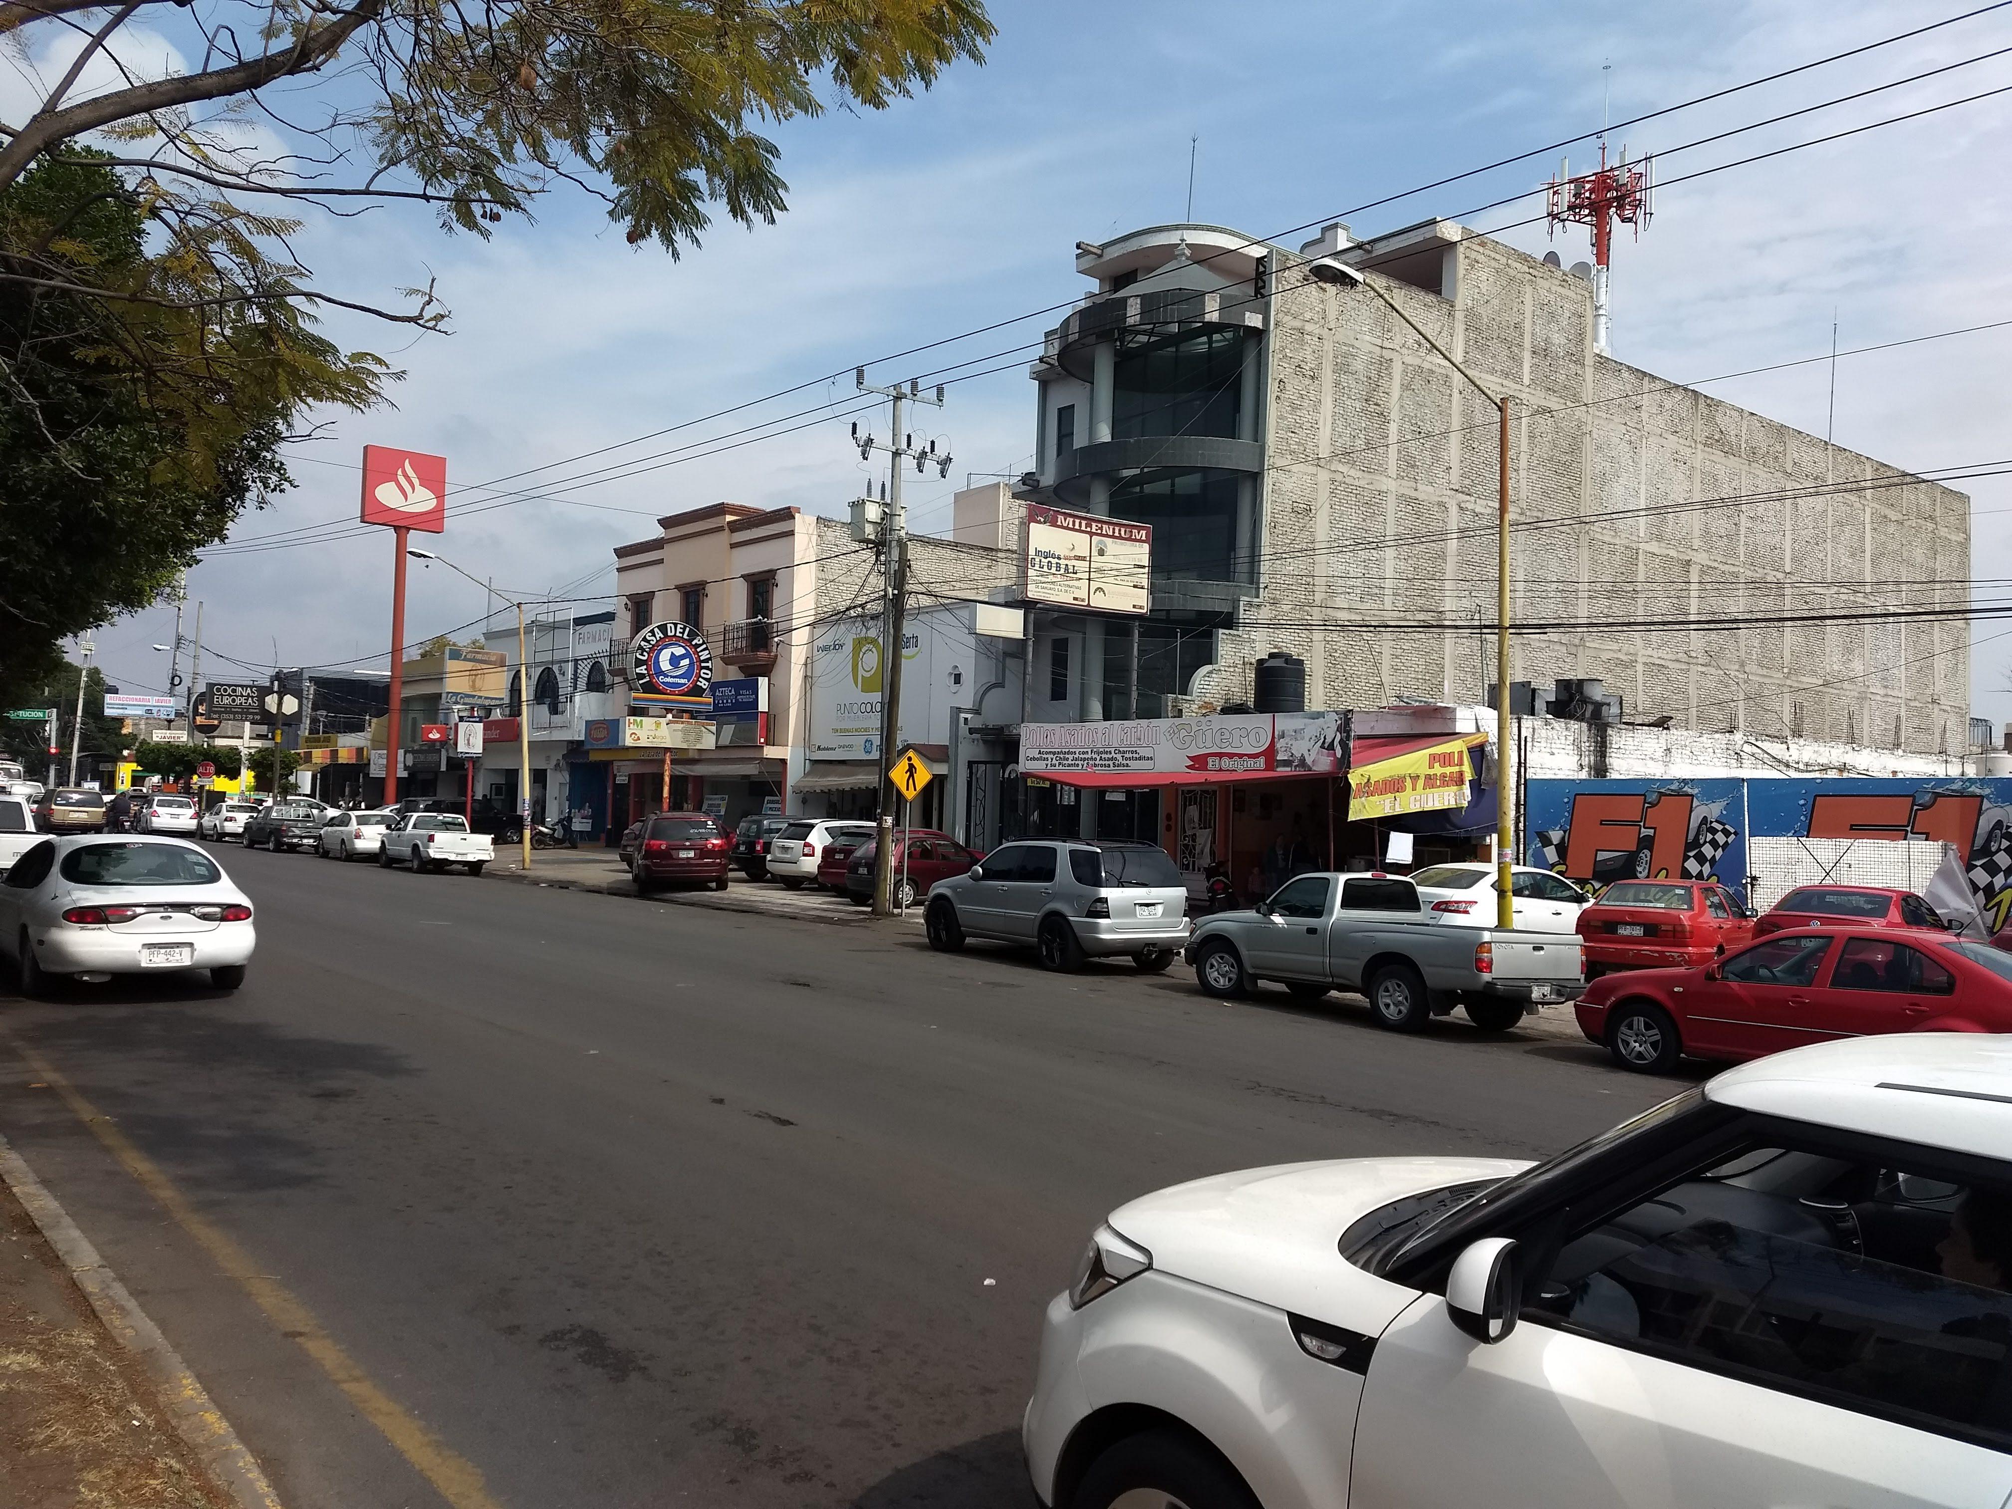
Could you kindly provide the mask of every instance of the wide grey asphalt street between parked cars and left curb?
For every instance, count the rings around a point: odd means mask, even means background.
[[[1024,1509],[1040,1310],[1113,1205],[1535,1157],[1670,1093],[1557,1026],[1400,1038],[1179,966],[221,857],[245,988],[0,994],[0,1131],[292,1509]]]

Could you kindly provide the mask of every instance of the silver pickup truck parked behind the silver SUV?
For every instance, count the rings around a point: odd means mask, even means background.
[[[1435,926],[1400,875],[1298,875],[1253,911],[1197,924],[1183,958],[1211,996],[1243,996],[1260,980],[1308,1000],[1360,990],[1396,1032],[1455,1006],[1483,1032],[1505,1032],[1585,990],[1577,934]]]

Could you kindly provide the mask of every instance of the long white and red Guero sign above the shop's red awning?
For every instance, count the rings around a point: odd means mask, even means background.
[[[1342,714],[1225,712],[1209,718],[1020,724],[1020,769],[1042,775],[1338,775]]]

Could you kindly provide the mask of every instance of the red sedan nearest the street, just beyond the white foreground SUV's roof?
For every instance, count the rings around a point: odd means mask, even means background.
[[[2012,1032],[2012,954],[1950,934],[1805,928],[1698,970],[1610,974],[1573,1004],[1622,1068],[1881,1032]]]

